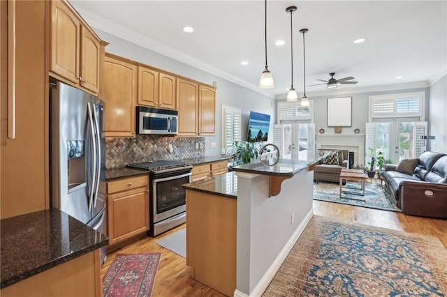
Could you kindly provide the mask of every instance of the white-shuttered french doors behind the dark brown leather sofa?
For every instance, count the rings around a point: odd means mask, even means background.
[[[397,164],[404,158],[417,158],[426,149],[427,122],[405,118],[380,119],[376,123],[366,123],[366,162],[369,162],[369,148],[381,151],[383,157]]]

